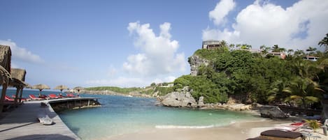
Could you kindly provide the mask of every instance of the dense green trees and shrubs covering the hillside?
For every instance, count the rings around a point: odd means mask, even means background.
[[[323,42],[323,41],[322,41]],[[321,43],[322,44],[322,43]],[[325,45],[325,44],[323,44]],[[231,49],[231,48],[239,49]],[[250,45],[225,45],[220,49],[199,49],[194,52],[210,61],[201,66],[197,76],[183,75],[174,81],[174,90],[190,86],[192,96],[204,102],[238,102],[262,104],[290,104],[315,107],[328,88],[328,53],[261,46],[262,52],[251,53]],[[230,50],[229,50],[230,49]],[[265,56],[271,52],[288,52],[285,59]],[[292,54],[294,52],[294,54]],[[306,55],[320,56],[318,61],[307,61]],[[325,86],[326,85],[326,86]]]

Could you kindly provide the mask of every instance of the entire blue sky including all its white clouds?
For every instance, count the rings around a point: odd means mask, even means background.
[[[190,74],[203,40],[318,47],[327,0],[0,0],[0,44],[31,85],[143,87]]]

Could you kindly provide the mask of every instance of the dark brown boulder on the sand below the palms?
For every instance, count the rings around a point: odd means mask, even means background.
[[[285,114],[279,107],[277,106],[262,106],[259,108],[259,113],[264,118],[288,118],[289,116]]]

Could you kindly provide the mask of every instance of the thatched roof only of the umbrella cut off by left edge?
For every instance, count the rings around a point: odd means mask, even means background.
[[[0,45],[0,65],[10,74],[11,50],[9,46]]]

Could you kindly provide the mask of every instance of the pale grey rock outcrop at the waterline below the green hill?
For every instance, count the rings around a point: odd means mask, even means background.
[[[157,98],[159,102],[166,107],[197,107],[197,102],[190,93],[190,89],[186,86],[180,92],[168,93],[165,96]]]

